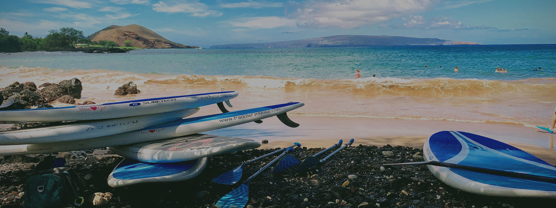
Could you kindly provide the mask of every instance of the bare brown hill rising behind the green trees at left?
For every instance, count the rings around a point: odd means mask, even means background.
[[[198,48],[171,42],[150,29],[137,24],[108,26],[101,31],[89,35],[87,38],[97,42],[99,40],[112,40],[120,46],[124,46],[123,42],[130,40],[131,46],[138,48]]]

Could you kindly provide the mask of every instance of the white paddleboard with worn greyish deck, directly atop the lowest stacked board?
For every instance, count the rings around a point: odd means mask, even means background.
[[[128,159],[147,163],[176,163],[208,156],[259,148],[251,139],[210,134],[192,134],[146,143],[112,146],[108,149]]]

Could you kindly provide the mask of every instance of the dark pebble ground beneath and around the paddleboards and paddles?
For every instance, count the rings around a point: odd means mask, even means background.
[[[255,149],[211,156],[203,173],[192,180],[118,188],[108,186],[106,180],[123,158],[111,156],[110,151],[102,155],[93,154],[93,150],[72,151],[66,166],[86,179],[84,207],[215,207],[220,197],[237,185],[215,184],[211,182],[212,178],[274,150]],[[299,148],[290,154],[304,159],[321,150],[323,148]],[[383,152],[393,154],[386,156]],[[443,184],[426,166],[382,165],[422,161],[413,158],[413,155],[421,154],[421,149],[406,146],[386,145],[379,148],[359,145],[345,148],[326,163],[304,173],[292,174],[290,170],[272,174],[272,170],[265,170],[250,182],[246,207],[520,208],[552,207],[554,204],[554,200],[468,194]],[[0,192],[5,193],[0,195],[2,207],[22,207],[22,184],[33,174],[37,161],[48,155],[55,154],[4,156],[3,159],[0,156]],[[273,156],[247,166],[243,179],[272,159]]]

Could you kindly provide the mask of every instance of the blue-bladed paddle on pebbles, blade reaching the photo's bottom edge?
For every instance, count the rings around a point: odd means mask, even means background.
[[[220,198],[220,200],[218,200],[218,202],[216,202],[215,206],[216,207],[221,207],[221,208],[245,207],[245,205],[247,204],[247,201],[249,200],[249,182],[251,182],[251,180],[255,176],[259,175],[266,168],[269,168],[269,166],[272,165],[276,160],[280,159],[282,156],[287,154],[289,151],[293,151],[293,150],[294,150],[294,148],[286,148],[286,151],[284,151],[284,153],[282,153],[280,156],[277,156],[269,164],[266,164],[264,167],[262,167],[259,171],[257,171],[257,173],[253,174],[251,177],[249,177],[247,180],[245,180],[245,182],[243,184],[241,184],[239,187],[237,187],[233,191],[230,191],[228,194],[222,196],[222,198]]]

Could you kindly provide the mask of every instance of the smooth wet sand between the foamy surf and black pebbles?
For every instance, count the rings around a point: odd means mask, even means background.
[[[263,120],[262,124],[242,124],[209,131],[207,134],[269,140],[270,143],[263,144],[262,149],[289,146],[294,141],[307,148],[321,148],[337,143],[338,139],[347,142],[351,138],[355,139],[354,145],[384,146],[390,144],[422,149],[425,140],[430,135],[438,131],[454,130],[503,141],[556,165],[556,149],[553,146],[556,135],[518,124],[333,116],[289,115],[289,117],[300,126],[289,128],[281,124],[277,118],[267,118]]]

